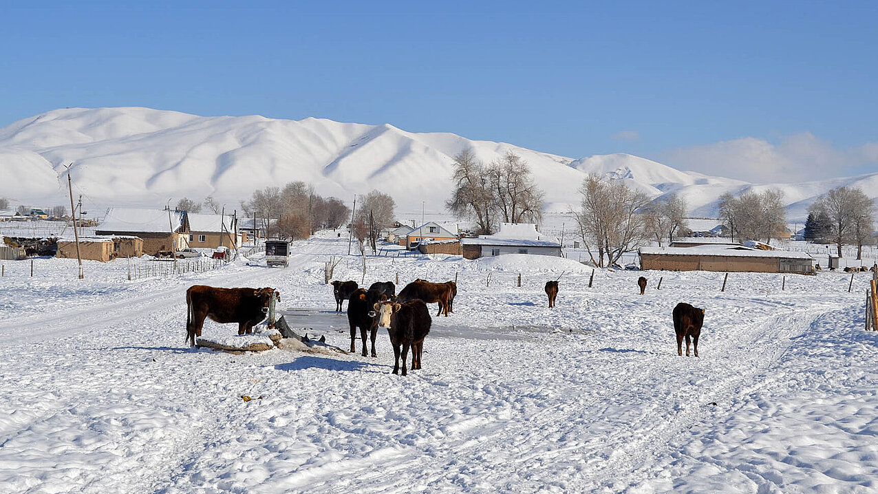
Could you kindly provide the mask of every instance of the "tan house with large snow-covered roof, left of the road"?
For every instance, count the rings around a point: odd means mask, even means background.
[[[186,211],[112,208],[97,226],[95,234],[140,237],[144,254],[170,254],[189,247],[187,216]]]

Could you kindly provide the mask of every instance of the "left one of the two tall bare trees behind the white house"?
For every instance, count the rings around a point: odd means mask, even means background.
[[[497,204],[487,182],[487,170],[471,147],[454,157],[453,180],[455,188],[445,207],[458,218],[475,222],[477,234],[492,234]]]

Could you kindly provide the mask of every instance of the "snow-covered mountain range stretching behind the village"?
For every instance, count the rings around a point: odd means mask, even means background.
[[[63,204],[66,166],[76,193],[96,206],[166,204],[169,198],[238,204],[254,190],[293,180],[318,193],[349,200],[384,190],[402,209],[439,211],[450,196],[452,157],[472,147],[482,161],[512,151],[529,162],[551,211],[579,203],[588,173],[623,179],[651,197],[677,192],[694,215],[716,211],[725,191],[784,190],[791,219],[807,215],[817,196],[838,185],[878,195],[878,174],[815,183],[760,184],[682,172],[631,154],[579,160],[504,142],[467,140],[452,133],[414,133],[392,125],[339,123],[322,118],[282,120],[198,117],[148,108],[72,108],[48,111],[0,129],[0,197]]]

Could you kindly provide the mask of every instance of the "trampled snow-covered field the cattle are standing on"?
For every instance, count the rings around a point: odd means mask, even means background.
[[[33,277],[2,261],[0,492],[878,489],[870,273],[851,293],[838,272],[788,275],[786,290],[733,273],[721,292],[722,273],[598,270],[588,288],[591,268],[559,258],[370,257],[366,284],[458,278],[407,377],[390,373],[386,333],[377,359],[185,346],[184,292],[210,284],[277,288],[347,348],[323,284],[330,254],[336,279],[360,282],[347,251],[324,233],[289,268],[253,257],[132,282],[125,261],[86,262],[84,280],[76,260],[37,259]],[[706,310],[700,358],[676,354],[681,301]]]

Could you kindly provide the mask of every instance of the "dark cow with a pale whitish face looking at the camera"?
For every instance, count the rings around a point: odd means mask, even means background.
[[[423,300],[412,300],[404,304],[380,302],[372,306],[378,312],[378,327],[383,327],[390,335],[393,346],[393,374],[399,374],[399,356],[402,355],[402,375],[406,376],[408,348],[412,347],[412,370],[421,369],[421,352],[424,337],[430,332],[433,319]],[[401,347],[401,350],[400,350]]]

